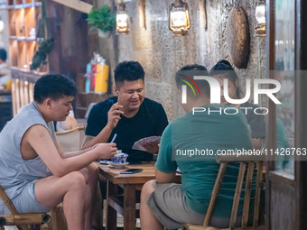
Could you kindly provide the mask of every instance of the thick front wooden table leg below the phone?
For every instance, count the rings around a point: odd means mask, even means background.
[[[124,185],[124,230],[135,230],[135,185]]]

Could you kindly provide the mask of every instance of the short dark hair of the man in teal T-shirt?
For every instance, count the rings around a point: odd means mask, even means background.
[[[182,67],[178,70],[175,76],[176,84],[178,89],[181,89],[182,85],[186,85],[184,81],[191,82],[191,79],[193,79],[194,76],[209,76],[209,72],[206,67],[194,64],[194,65],[187,65]],[[200,88],[200,92],[204,92],[208,97],[210,95],[210,87],[207,80],[193,80],[197,87]],[[188,90],[188,93],[190,90]]]

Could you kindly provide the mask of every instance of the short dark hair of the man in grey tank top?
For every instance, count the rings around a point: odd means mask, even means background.
[[[75,97],[78,89],[74,81],[61,74],[47,74],[38,79],[34,86],[34,101],[42,104],[50,97],[59,100],[64,96]]]

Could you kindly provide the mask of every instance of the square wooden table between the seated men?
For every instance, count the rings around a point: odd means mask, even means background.
[[[135,230],[136,190],[141,190],[144,183],[154,177],[154,162],[134,164],[125,169],[112,169],[107,165],[99,165],[100,174],[107,179],[107,230],[116,229],[116,213],[124,216],[124,230]],[[120,174],[122,170],[143,169],[135,174]],[[180,182],[180,174],[176,175]],[[124,188],[124,202],[117,198],[117,186]]]

